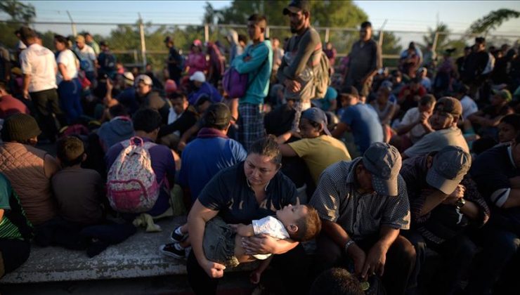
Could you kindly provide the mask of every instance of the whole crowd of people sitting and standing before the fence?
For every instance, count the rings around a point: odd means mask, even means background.
[[[411,42],[389,69],[370,22],[337,60],[308,1],[280,13],[283,45],[258,14],[228,46],[184,56],[166,37],[162,74],[91,34],[53,52],[21,27],[0,67],[0,277],[32,244],[93,257],[188,209],[159,251],[186,259],[196,294],[256,260],[275,294],[520,287],[517,44],[477,37],[455,60]]]

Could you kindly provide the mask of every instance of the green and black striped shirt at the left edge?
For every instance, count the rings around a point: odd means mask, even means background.
[[[4,209],[4,216],[0,220],[0,239],[10,240],[24,240],[22,233],[18,226],[16,226],[11,218],[8,216],[14,216],[16,214],[22,215],[22,218],[18,218],[27,223],[28,227],[32,227],[31,223],[25,217],[25,211],[22,209],[20,204],[20,198],[11,188],[11,183],[7,180],[4,174],[0,173],[0,209]],[[20,216],[16,216],[20,217]]]

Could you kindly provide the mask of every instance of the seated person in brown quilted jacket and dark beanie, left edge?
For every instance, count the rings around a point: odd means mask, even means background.
[[[40,133],[36,120],[21,113],[8,117],[1,131],[0,172],[11,181],[33,225],[51,220],[58,210],[51,177],[59,166],[46,151],[34,147]]]

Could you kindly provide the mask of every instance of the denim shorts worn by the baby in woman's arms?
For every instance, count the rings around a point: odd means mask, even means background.
[[[206,223],[202,249],[210,261],[226,266],[237,266],[235,257],[235,236],[233,228],[220,217],[214,217]]]

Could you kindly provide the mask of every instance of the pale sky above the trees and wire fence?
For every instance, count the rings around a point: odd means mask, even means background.
[[[36,8],[37,22],[134,23],[138,13],[145,22],[162,24],[200,24],[205,1],[22,1]],[[219,9],[231,1],[209,1]],[[453,32],[464,32],[474,20],[490,11],[509,8],[520,11],[520,1],[354,1],[368,14],[375,29],[427,32],[443,22]],[[0,20],[8,16],[0,13]],[[40,25],[43,26],[43,25]],[[52,26],[71,34],[70,25]],[[94,33],[103,25],[91,26]],[[37,27],[37,29],[39,29]],[[103,29],[103,31],[105,30]],[[44,29],[46,30],[46,29]],[[82,29],[78,29],[82,30]],[[101,33],[101,32],[100,32]],[[520,36],[520,18],[508,20],[495,32]]]

